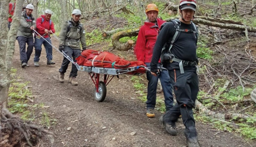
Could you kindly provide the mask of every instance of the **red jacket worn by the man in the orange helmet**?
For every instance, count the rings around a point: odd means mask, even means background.
[[[153,49],[157,41],[158,30],[164,23],[164,20],[157,18],[157,25],[151,22],[145,22],[139,29],[139,35],[135,47],[137,59],[144,63],[150,63],[153,55]]]

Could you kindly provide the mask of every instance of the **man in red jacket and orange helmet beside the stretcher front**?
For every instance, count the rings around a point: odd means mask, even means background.
[[[137,59],[139,61],[143,61],[147,67],[150,67],[154,45],[158,36],[158,30],[165,21],[157,18],[159,10],[156,4],[148,4],[145,12],[147,14],[147,21],[139,29],[135,51]],[[158,66],[160,66],[160,63]],[[166,111],[173,107],[171,80],[168,71],[162,71],[158,76],[153,76],[150,72],[147,72],[146,75],[148,79],[146,115],[148,117],[155,117],[154,108],[156,105],[156,92],[159,78],[163,88]]]

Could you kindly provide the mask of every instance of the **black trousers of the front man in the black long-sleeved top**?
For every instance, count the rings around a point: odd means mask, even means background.
[[[184,74],[181,74],[180,70],[176,69],[170,70],[169,76],[177,103],[164,114],[163,121],[173,126],[181,115],[185,125],[185,136],[187,138],[196,137],[197,131],[192,108],[195,107],[195,100],[199,91],[197,73],[185,71]]]

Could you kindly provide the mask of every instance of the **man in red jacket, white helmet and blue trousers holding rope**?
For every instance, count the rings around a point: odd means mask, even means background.
[[[53,12],[51,10],[45,10],[45,15],[41,15],[41,17],[36,19],[36,31],[44,38],[41,38],[39,34],[35,33],[35,67],[39,67],[39,57],[42,51],[42,44],[44,45],[46,51],[47,65],[55,64],[55,62],[53,62],[53,47],[49,44],[52,43],[50,34],[55,33],[54,24],[51,20],[52,14]]]

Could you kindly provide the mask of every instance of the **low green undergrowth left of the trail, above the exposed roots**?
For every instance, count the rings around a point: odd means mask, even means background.
[[[28,84],[30,82],[22,82],[22,78],[16,76],[17,69],[11,69],[11,85],[8,92],[8,110],[12,114],[19,115],[25,121],[34,121],[38,115],[42,115],[40,123],[43,126],[50,127],[56,123],[56,119],[51,119],[47,112],[37,113],[44,108],[44,104],[33,104],[33,95]],[[29,100],[30,99],[30,100]],[[44,110],[42,110],[44,111]]]

